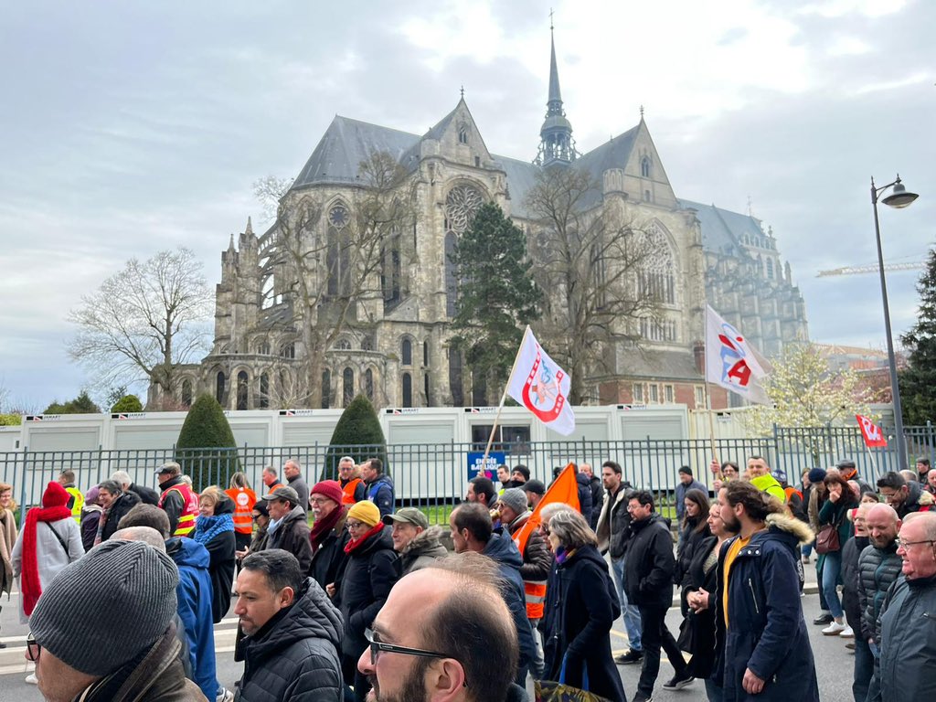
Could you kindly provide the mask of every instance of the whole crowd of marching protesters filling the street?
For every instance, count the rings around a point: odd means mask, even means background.
[[[22,530],[0,483],[0,585],[21,593],[27,682],[63,702],[519,702],[528,689],[809,702],[812,626],[854,650],[856,702],[936,699],[929,462],[872,483],[849,460],[792,484],[757,456],[708,469],[710,490],[683,466],[661,495],[610,460],[569,463],[549,485],[502,465],[445,526],[398,507],[376,458],[345,457],[311,487],[289,460],[256,492],[241,473],[196,492],[174,462],[159,490],[117,472],[82,493],[65,471]],[[822,607],[809,622],[807,568]],[[213,625],[231,609],[243,673],[228,689]]]

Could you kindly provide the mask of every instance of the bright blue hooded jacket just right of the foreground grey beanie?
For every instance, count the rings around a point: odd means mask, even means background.
[[[208,570],[211,557],[207,548],[183,536],[170,538],[166,552],[179,567],[177,612],[185,626],[193,680],[202,694],[213,700],[218,694],[218,679],[214,663],[212,576]]]

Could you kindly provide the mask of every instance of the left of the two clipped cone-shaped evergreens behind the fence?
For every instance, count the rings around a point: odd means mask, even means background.
[[[230,475],[241,470],[234,432],[225,411],[212,395],[199,395],[179,431],[175,460],[192,476],[198,492],[209,485],[226,488]]]

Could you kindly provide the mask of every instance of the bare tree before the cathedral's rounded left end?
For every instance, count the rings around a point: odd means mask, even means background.
[[[345,333],[373,329],[385,300],[405,294],[404,264],[415,255],[405,236],[415,225],[415,193],[391,154],[373,152],[343,200],[319,190],[280,200],[271,240],[260,243],[261,250],[269,245],[264,265],[277,279],[264,296],[291,306],[288,328],[304,352],[296,354],[297,387],[305,390],[306,406],[321,406],[329,349]]]

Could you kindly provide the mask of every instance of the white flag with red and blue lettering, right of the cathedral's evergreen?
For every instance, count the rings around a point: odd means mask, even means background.
[[[705,379],[750,402],[773,404],[760,384],[769,371],[741,332],[706,305]]]

